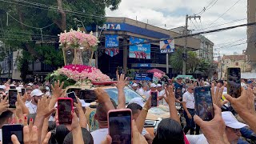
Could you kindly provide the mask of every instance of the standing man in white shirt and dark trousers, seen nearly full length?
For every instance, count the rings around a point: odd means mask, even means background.
[[[194,134],[194,86],[189,85],[186,93],[182,95],[182,106],[184,108],[184,117],[186,118],[186,126],[184,128],[184,133],[186,134],[190,130],[190,134]],[[197,134],[199,134],[199,129],[197,127]]]

